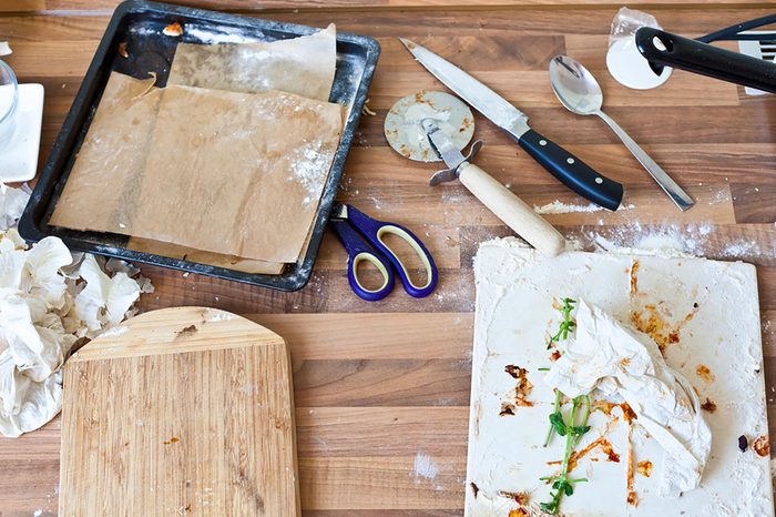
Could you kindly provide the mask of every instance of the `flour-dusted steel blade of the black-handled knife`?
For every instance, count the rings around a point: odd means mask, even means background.
[[[425,47],[406,38],[399,39],[420,64],[496,125],[518,140],[529,131],[525,113],[504,98]]]

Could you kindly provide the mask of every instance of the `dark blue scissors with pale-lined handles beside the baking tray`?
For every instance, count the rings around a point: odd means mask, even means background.
[[[335,203],[329,224],[348,253],[348,282],[350,288],[367,302],[382,300],[394,290],[396,275],[407,293],[416,298],[431,294],[437,286],[439,272],[433,257],[423,243],[412,232],[394,223],[377,221],[349,204]],[[401,260],[382,241],[387,234],[396,235],[409,244],[426,267],[426,284],[416,285],[409,277]],[[382,275],[382,285],[369,290],[358,278],[358,264],[363,261],[374,264]],[[396,271],[396,275],[394,274]]]

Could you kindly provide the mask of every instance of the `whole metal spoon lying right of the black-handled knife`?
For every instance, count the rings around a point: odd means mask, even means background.
[[[603,105],[601,87],[579,61],[568,55],[552,58],[550,84],[569,111],[580,115],[599,115],[603,119],[676,206],[684,211],[695,204],[693,199],[614,120],[601,111]]]

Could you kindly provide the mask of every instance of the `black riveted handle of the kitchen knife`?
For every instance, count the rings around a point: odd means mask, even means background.
[[[528,130],[518,143],[561,183],[581,196],[611,211],[620,206],[622,184],[599,174],[552,140]]]

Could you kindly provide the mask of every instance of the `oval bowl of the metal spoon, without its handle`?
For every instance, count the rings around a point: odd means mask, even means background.
[[[574,58],[555,55],[550,61],[550,84],[566,110],[592,115],[601,111],[603,92],[586,68]]]

